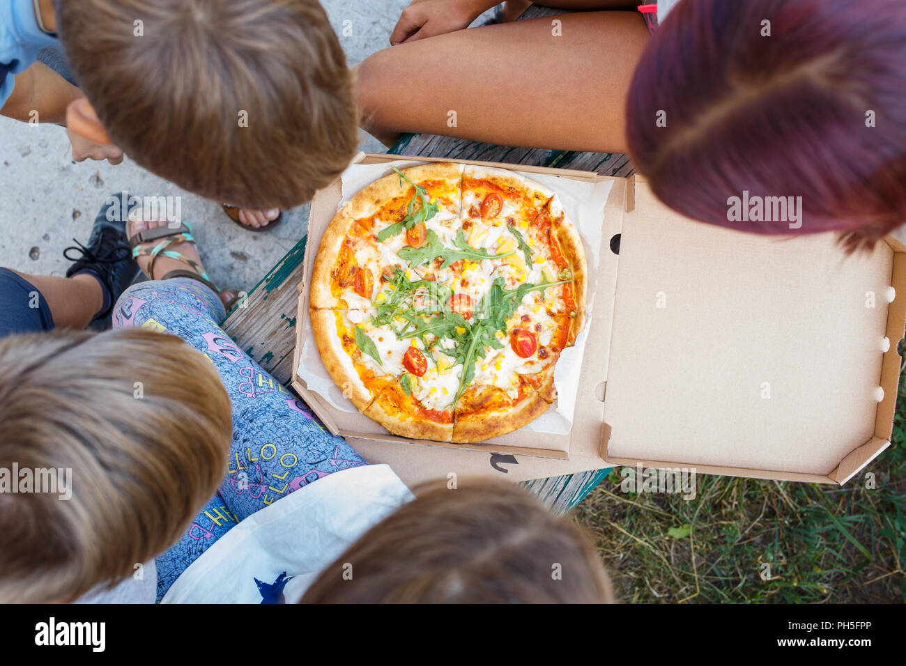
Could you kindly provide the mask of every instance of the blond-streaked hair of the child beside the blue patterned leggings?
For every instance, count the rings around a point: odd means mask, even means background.
[[[0,602],[72,601],[181,536],[223,479],[226,391],[175,336],[0,340],[0,468],[71,468],[72,498],[0,492]]]

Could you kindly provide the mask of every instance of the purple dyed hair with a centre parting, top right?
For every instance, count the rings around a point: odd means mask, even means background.
[[[683,0],[642,53],[627,119],[636,167],[679,213],[873,246],[906,221],[906,2]],[[802,197],[802,226],[731,221],[744,191]]]

